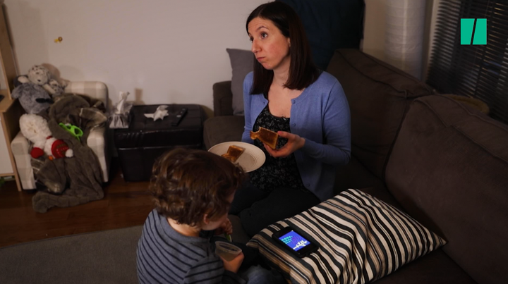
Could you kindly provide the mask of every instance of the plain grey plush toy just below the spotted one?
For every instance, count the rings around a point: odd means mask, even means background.
[[[19,85],[13,89],[12,97],[19,99],[27,113],[40,113],[53,104],[53,99],[40,85],[32,82]]]

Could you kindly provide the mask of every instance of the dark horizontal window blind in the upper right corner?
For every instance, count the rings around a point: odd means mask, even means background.
[[[487,44],[461,44],[461,18],[486,18]],[[508,124],[508,1],[440,1],[427,83],[484,101],[492,118]]]

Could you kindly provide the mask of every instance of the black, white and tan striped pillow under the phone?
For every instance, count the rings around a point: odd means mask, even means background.
[[[317,252],[299,259],[272,234],[286,226],[307,233]],[[292,283],[368,283],[446,242],[406,213],[360,190],[346,190],[301,214],[270,225],[248,246]]]

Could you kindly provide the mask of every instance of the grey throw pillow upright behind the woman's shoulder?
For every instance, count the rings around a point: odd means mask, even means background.
[[[243,116],[243,79],[253,70],[254,55],[250,50],[226,49],[231,61],[233,75],[231,92],[233,93],[233,114]]]

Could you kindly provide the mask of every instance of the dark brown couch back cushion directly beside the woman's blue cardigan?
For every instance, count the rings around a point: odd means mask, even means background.
[[[337,49],[327,72],[341,82],[351,110],[351,153],[378,178],[409,103],[433,90],[355,49]]]

